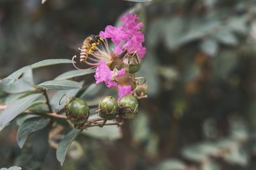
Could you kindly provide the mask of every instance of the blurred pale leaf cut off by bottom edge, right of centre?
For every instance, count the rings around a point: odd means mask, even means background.
[[[182,170],[186,169],[186,164],[177,159],[168,159],[164,160],[152,170]]]

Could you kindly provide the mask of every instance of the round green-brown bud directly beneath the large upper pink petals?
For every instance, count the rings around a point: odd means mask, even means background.
[[[141,59],[136,53],[126,55],[123,62],[125,66],[125,71],[127,71],[128,73],[133,74],[140,70]]]

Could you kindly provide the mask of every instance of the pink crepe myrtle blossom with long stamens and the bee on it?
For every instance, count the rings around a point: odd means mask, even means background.
[[[96,68],[96,83],[104,82],[107,87],[115,87],[117,78],[125,74],[125,69],[118,70],[115,64],[114,69],[109,68],[122,53],[136,53],[142,59],[146,52],[146,48],[142,45],[144,35],[140,31],[143,23],[138,22],[138,16],[127,13],[120,18],[120,21],[122,25],[119,27],[108,25],[105,31],[100,31],[99,35],[88,36],[84,39],[83,46],[79,48],[80,62],[91,66],[88,69]],[[113,51],[109,49],[107,38],[111,38],[111,41],[116,44]],[[75,58],[76,56],[72,60],[74,61]],[[75,63],[73,62],[74,66]]]

